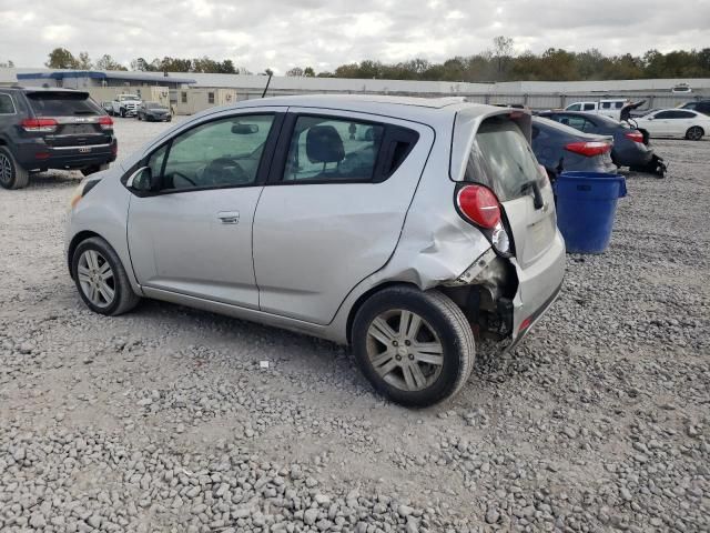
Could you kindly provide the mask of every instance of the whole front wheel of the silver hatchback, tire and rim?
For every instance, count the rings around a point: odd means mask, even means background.
[[[71,272],[79,295],[94,313],[115,316],[130,311],[140,301],[119,255],[100,237],[87,239],[77,247]]]

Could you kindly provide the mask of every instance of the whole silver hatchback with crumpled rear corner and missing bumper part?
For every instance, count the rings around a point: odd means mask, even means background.
[[[460,99],[211,109],[82,182],[69,270],[98,313],[144,296],[351,344],[377,391],[430,405],[560,289],[529,139],[528,113]]]

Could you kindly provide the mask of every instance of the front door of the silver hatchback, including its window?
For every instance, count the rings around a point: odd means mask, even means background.
[[[202,122],[146,158],[161,179],[160,190],[134,195],[129,208],[139,283],[258,308],[252,223],[277,117],[260,112]]]

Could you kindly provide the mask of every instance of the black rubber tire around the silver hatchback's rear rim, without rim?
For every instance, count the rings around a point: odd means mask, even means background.
[[[371,362],[368,329],[376,318],[395,310],[418,314],[443,346],[440,372],[422,390],[406,391],[393,385],[377,373]],[[353,322],[352,343],[355,360],[375,390],[396,403],[413,408],[426,408],[456,394],[468,380],[476,356],[474,333],[458,305],[437,290],[423,292],[404,285],[384,289],[362,305]]]

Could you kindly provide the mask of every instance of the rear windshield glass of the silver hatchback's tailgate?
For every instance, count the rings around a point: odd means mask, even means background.
[[[505,202],[523,197],[523,185],[540,178],[532,149],[515,122],[493,118],[480,124],[466,165],[465,181],[493,189]]]

